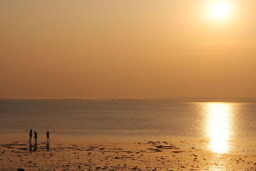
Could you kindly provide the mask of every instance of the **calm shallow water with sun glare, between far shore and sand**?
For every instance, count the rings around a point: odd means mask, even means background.
[[[0,100],[0,115],[0,133],[197,137],[218,153],[256,133],[256,103]]]

